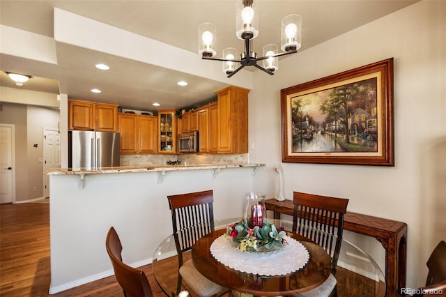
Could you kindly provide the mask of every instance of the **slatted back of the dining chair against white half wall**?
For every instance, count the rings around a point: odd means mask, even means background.
[[[172,226],[178,252],[192,249],[192,245],[214,230],[213,191],[169,195]]]

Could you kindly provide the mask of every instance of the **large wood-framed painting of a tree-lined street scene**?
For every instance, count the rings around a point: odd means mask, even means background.
[[[394,166],[393,58],[281,90],[282,161]]]

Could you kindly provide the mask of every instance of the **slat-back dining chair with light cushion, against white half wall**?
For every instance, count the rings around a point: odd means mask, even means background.
[[[192,250],[192,245],[199,238],[214,231],[213,191],[169,195],[167,199],[169,199],[176,250],[178,252],[177,294],[181,291],[183,279],[199,296],[213,296],[223,291],[224,287],[201,275],[192,260],[183,263],[183,252]],[[199,227],[191,228],[195,225]]]

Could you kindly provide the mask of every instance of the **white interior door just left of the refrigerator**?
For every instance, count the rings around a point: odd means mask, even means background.
[[[61,134],[56,128],[43,128],[43,194],[49,197],[47,169],[61,167]]]

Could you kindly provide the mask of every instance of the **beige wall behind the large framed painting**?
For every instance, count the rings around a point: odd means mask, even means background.
[[[305,22],[305,20],[304,20]],[[328,24],[329,26],[330,24]],[[254,190],[275,195],[282,162],[280,90],[394,57],[395,167],[283,163],[293,190],[350,199],[348,209],[408,224],[407,285],[426,280],[426,260],[446,239],[446,2],[422,1],[254,73],[249,93],[251,162],[268,169]],[[305,32],[302,42],[305,43]],[[350,236],[383,267],[373,238]]]

